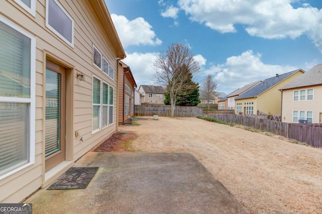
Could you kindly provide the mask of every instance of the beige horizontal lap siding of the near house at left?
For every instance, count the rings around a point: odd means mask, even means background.
[[[118,45],[112,43],[101,24],[102,14],[96,15],[92,6],[99,8],[104,1],[59,0],[60,5],[74,21],[73,48],[61,40],[46,26],[46,1],[36,1],[36,17],[33,17],[14,1],[3,1],[0,16],[4,16],[36,36],[36,118],[35,163],[0,180],[0,202],[20,202],[32,192],[49,184],[69,168],[75,160],[95,145],[108,138],[117,129],[117,73]],[[104,8],[103,8],[104,9]],[[97,10],[97,9],[96,9]],[[96,12],[97,13],[97,12]],[[100,17],[101,16],[101,17]],[[97,25],[96,25],[97,24]],[[114,34],[111,34],[114,35]],[[114,80],[93,66],[92,52],[95,45],[114,68]],[[122,52],[122,51],[121,51]],[[124,52],[124,51],[123,51]],[[124,53],[125,55],[125,53]],[[44,115],[45,115],[45,62],[47,59],[67,68],[66,71],[66,162],[58,173],[46,175],[44,168]],[[85,74],[80,81],[77,73]],[[93,74],[114,87],[113,124],[92,133],[92,77]],[[79,136],[75,137],[75,131]],[[81,141],[83,137],[83,141]]]

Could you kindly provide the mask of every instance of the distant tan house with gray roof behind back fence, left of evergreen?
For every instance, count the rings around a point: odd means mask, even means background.
[[[164,104],[166,90],[162,86],[140,85],[141,103]]]

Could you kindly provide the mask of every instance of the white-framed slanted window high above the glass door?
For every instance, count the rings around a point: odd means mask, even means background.
[[[46,27],[68,45],[74,46],[74,21],[56,0],[46,1]]]

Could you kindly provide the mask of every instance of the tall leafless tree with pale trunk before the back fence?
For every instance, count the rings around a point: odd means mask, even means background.
[[[172,44],[166,53],[159,53],[152,65],[156,84],[164,85],[170,94],[171,116],[174,117],[177,95],[189,81],[189,72],[199,71],[199,64],[193,59],[189,47],[180,43]]]

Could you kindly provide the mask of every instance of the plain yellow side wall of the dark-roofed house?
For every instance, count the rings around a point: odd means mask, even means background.
[[[302,72],[297,72],[290,77],[286,78],[282,82],[276,84],[263,94],[258,97],[258,109],[265,114],[280,115],[281,114],[281,103],[282,103],[282,93],[279,91],[280,88],[290,83],[292,80],[296,79]]]

